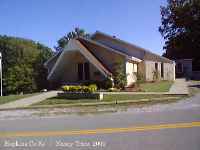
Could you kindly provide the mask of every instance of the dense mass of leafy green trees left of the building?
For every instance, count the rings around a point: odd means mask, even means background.
[[[0,36],[0,52],[5,95],[48,87],[43,64],[53,54],[50,48],[32,40]]]

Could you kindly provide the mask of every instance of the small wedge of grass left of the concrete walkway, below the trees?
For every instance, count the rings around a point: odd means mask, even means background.
[[[36,95],[36,94],[37,94],[37,93],[33,93],[33,94],[24,94],[24,95],[8,95],[8,96],[2,96],[2,97],[0,97],[0,105],[1,105],[1,104],[5,104],[5,103],[8,103],[8,102],[12,102],[12,101],[19,100],[19,99],[21,99],[21,98],[33,96],[33,95]]]

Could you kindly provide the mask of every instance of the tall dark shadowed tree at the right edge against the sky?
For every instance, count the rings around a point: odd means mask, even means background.
[[[164,56],[192,58],[200,69],[200,0],[168,0],[161,7],[159,31],[165,39]]]

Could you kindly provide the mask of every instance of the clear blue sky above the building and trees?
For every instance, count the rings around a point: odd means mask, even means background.
[[[79,27],[162,54],[161,5],[166,0],[0,0],[0,35],[53,48],[59,38]]]

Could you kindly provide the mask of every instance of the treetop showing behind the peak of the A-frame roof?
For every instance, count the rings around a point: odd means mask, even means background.
[[[56,51],[62,51],[63,48],[67,45],[70,39],[74,39],[77,37],[86,37],[88,38],[90,35],[85,32],[84,29],[75,28],[74,31],[67,33],[67,35],[61,37],[57,41],[57,46],[55,46]]]

